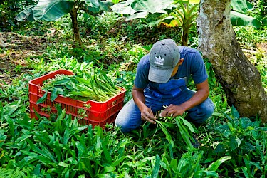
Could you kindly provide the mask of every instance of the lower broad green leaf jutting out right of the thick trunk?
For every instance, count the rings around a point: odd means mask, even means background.
[[[233,26],[255,26],[256,28],[261,26],[261,21],[258,21],[258,19],[236,11],[231,11],[230,17]]]

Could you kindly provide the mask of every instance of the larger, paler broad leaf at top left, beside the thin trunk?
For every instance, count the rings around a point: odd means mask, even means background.
[[[35,20],[55,21],[68,14],[74,4],[71,0],[39,0],[33,16]]]

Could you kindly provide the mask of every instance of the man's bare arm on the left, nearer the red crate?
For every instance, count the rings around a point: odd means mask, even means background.
[[[132,98],[141,112],[141,119],[156,124],[154,121],[156,117],[153,115],[152,110],[145,105],[144,89],[136,88],[134,85],[132,88]]]

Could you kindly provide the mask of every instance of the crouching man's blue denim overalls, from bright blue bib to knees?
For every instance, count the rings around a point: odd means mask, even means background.
[[[157,86],[156,88],[154,88]],[[186,87],[186,78],[171,79],[167,83],[150,83],[144,90],[145,105],[151,108],[153,113],[163,110],[163,105],[181,105],[192,98],[194,90]],[[210,98],[200,105],[187,110],[189,116],[196,123],[203,123],[214,112],[214,103]],[[120,110],[115,120],[117,127],[122,132],[130,132],[142,124],[141,113],[133,99],[129,100]]]

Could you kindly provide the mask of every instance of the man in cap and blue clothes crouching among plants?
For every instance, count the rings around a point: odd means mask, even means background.
[[[187,88],[190,76],[197,92]],[[157,41],[137,64],[132,100],[120,110],[115,124],[122,132],[130,132],[142,120],[156,124],[155,113],[163,110],[162,117],[188,112],[186,119],[198,127],[214,112],[214,103],[208,98],[207,78],[197,50],[177,46],[172,39]]]

